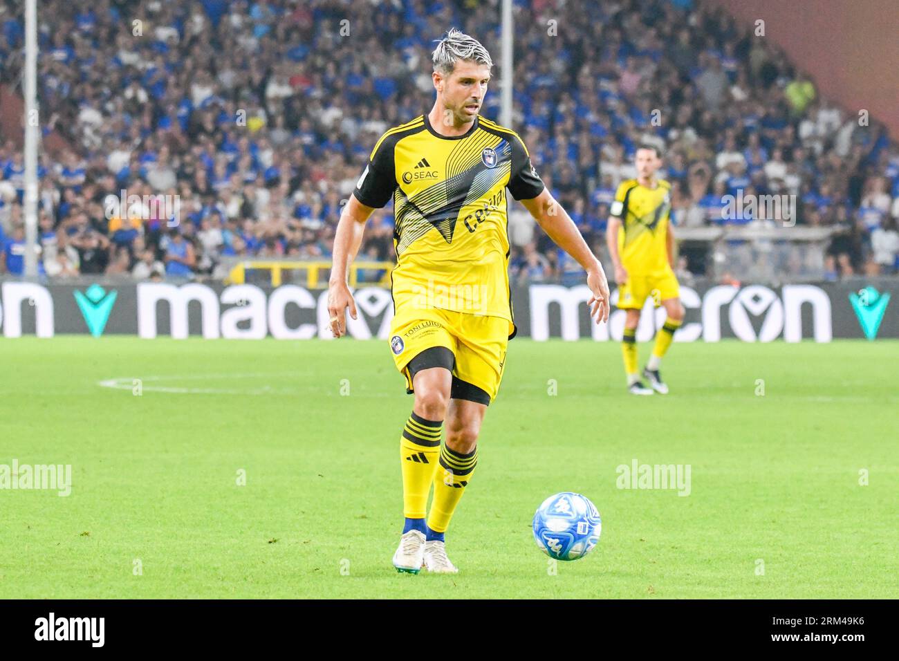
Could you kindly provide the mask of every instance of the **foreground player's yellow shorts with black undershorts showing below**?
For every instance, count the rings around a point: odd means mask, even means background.
[[[390,352],[407,393],[414,391],[414,371],[446,367],[453,375],[450,397],[489,405],[503,380],[508,344],[509,322],[503,317],[410,308],[390,324]]]

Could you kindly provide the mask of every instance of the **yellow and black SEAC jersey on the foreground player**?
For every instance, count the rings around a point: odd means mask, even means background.
[[[448,137],[422,115],[378,140],[353,194],[377,209],[393,196],[396,314],[419,307],[503,317],[515,335],[507,188],[529,200],[544,185],[518,134],[483,117]]]

